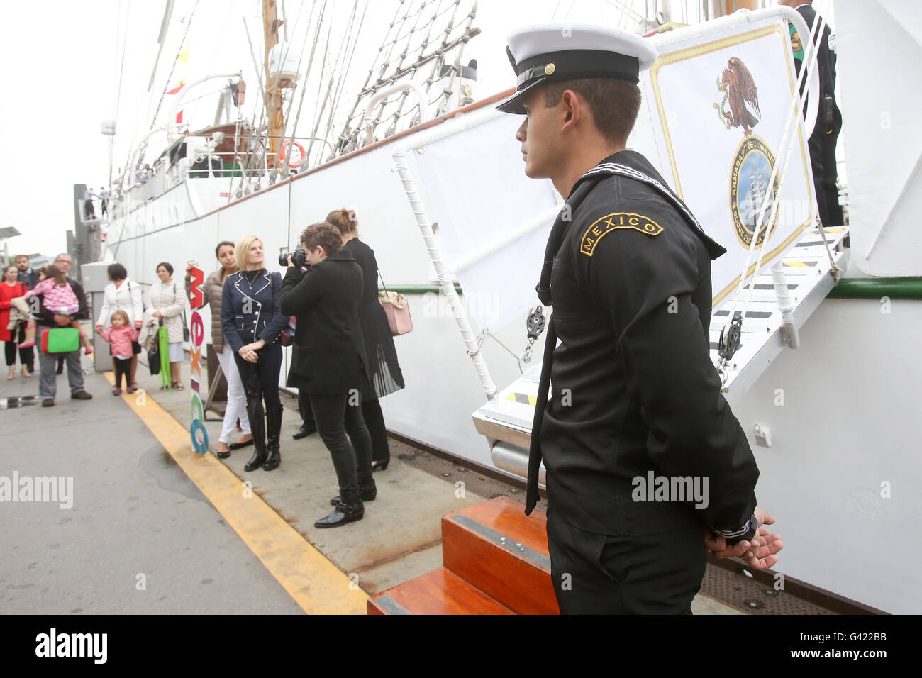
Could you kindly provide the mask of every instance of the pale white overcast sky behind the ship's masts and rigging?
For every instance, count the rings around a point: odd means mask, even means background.
[[[365,1],[360,0],[360,7]],[[643,0],[635,2],[638,7],[644,4]],[[653,0],[649,4],[655,5]],[[330,4],[334,9],[327,10],[325,30],[331,31],[333,42],[348,29],[352,5],[345,0]],[[175,0],[155,84],[148,92],[165,6],[164,0],[4,4],[0,63],[6,91],[0,122],[6,158],[2,178],[10,195],[4,201],[0,226],[15,226],[22,233],[9,241],[11,255],[53,255],[65,249],[65,233],[74,227],[73,184],[98,189],[108,181],[109,150],[107,137],[100,133],[101,121],[116,119],[112,164],[119,168],[124,166],[136,141],[148,131],[162,91],[181,77],[191,81],[207,74],[242,71],[248,86],[247,110],[252,111],[259,102],[253,57],[243,28],[245,18],[254,40],[255,57],[261,62],[259,0],[197,0],[197,7],[196,0]],[[308,38],[306,63],[316,24],[312,10],[319,9],[314,9],[311,0],[278,0],[278,6],[288,16],[292,54],[300,53],[304,37]],[[354,101],[396,6],[396,0],[371,3],[362,32],[365,39],[355,50],[350,71],[350,77],[359,78],[359,82],[353,82],[351,88],[348,83],[344,88],[344,102]],[[187,23],[190,18],[191,26]],[[466,59],[476,57],[479,62],[477,94],[485,97],[514,85],[504,54],[505,36],[510,30],[551,20],[617,26],[619,18],[621,9],[611,0],[479,0],[474,26],[482,32],[466,52]],[[188,65],[175,59],[181,44],[190,48]],[[328,58],[335,58],[331,51],[325,52]],[[319,61],[322,55],[314,58]],[[163,99],[158,125],[166,121],[171,105],[171,97]],[[299,135],[309,134],[303,129],[305,122],[313,120],[312,99],[306,97]],[[215,101],[211,98],[184,104],[183,117],[186,121],[192,118],[193,129],[208,125]],[[162,137],[152,139],[147,159],[152,161],[163,145]]]

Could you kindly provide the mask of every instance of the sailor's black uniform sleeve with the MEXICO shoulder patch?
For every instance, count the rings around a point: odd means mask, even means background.
[[[656,221],[663,232],[614,230],[597,240],[593,256],[575,256],[583,259],[593,300],[614,330],[629,392],[639,394],[648,454],[668,476],[706,477],[703,521],[739,529],[755,508],[759,470],[720,393],[691,301],[699,280],[695,236],[655,200],[623,209]]]

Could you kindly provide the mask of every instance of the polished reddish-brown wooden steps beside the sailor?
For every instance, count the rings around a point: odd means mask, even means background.
[[[443,516],[443,566],[373,596],[368,613],[557,614],[546,522],[506,497]]]

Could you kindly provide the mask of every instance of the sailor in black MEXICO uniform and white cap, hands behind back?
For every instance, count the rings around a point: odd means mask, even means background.
[[[586,26],[515,32],[526,174],[566,205],[538,284],[553,306],[532,427],[526,513],[544,461],[561,613],[691,613],[705,551],[755,568],[782,542],[762,523],[750,446],[711,363],[711,260],[726,252],[644,156],[642,38]],[[560,345],[557,343],[560,339]]]

